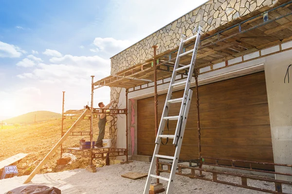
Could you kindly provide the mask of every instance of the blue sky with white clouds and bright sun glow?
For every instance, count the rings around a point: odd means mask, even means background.
[[[81,109],[110,57],[206,0],[0,0],[0,120]],[[94,90],[94,105],[110,88]],[[89,103],[90,104],[90,103]],[[95,107],[95,106],[94,106]]]

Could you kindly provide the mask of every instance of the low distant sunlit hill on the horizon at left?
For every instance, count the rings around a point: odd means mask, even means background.
[[[4,122],[8,124],[33,124],[35,123],[35,116],[36,116],[36,122],[43,122],[43,121],[49,121],[52,119],[58,119],[62,118],[62,114],[50,112],[50,111],[35,111],[35,112],[29,112],[17,117],[13,117],[11,119],[7,119]]]

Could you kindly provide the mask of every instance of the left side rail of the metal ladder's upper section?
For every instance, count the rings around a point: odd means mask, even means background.
[[[185,39],[185,35],[182,35],[182,40],[181,40],[180,48],[179,48],[179,51],[178,51],[178,56],[183,52],[183,40],[184,39]],[[177,57],[177,59],[175,61],[174,70],[176,68],[178,68],[179,63],[180,63],[180,58]],[[169,84],[169,87],[168,87],[168,92],[167,92],[166,99],[165,99],[165,104],[164,104],[164,108],[163,108],[163,114],[161,116],[160,124],[159,124],[159,127],[158,127],[158,133],[157,133],[156,140],[155,140],[156,144],[160,143],[160,141],[161,141],[161,139],[158,136],[162,135],[163,130],[164,130],[165,120],[163,118],[165,117],[165,113],[167,111],[166,110],[166,106],[169,105],[168,100],[170,100],[170,98],[171,98],[172,88],[173,88],[171,85],[175,82],[176,75],[177,75],[177,72],[173,71],[172,72],[172,76],[171,76],[171,81],[170,81],[170,84]]]

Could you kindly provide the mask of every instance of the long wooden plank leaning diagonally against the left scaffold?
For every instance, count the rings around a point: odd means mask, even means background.
[[[64,134],[64,136],[55,144],[55,146],[51,149],[51,151],[45,156],[44,159],[37,165],[35,170],[28,176],[28,178],[24,181],[23,184],[28,183],[33,179],[33,177],[38,173],[43,165],[51,158],[51,156],[55,153],[55,151],[60,147],[60,145],[69,137],[71,132],[77,127],[77,125],[84,119],[86,114],[90,112],[89,109],[86,109],[83,114],[79,117],[77,121],[70,127],[70,129]]]

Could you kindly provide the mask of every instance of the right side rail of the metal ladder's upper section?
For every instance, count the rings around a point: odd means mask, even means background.
[[[192,81],[193,71],[194,71],[196,58],[197,58],[197,53],[198,53],[198,47],[199,47],[199,44],[200,44],[200,38],[201,38],[201,26],[199,26],[199,28],[198,28],[198,34],[197,34],[197,38],[196,38],[196,42],[195,42],[195,46],[194,46],[193,56],[192,56],[192,60],[191,60],[191,66],[190,66],[189,71],[188,71],[186,85],[185,85],[185,88],[184,88],[184,94],[183,94],[183,98],[184,99],[183,99],[182,106],[181,106],[180,118],[181,118],[181,116],[183,114],[183,109],[184,109],[185,101],[186,101],[185,99],[188,96],[188,89],[190,88],[190,84],[191,84],[191,81]],[[177,127],[176,127],[177,129],[180,127],[181,123],[182,123],[182,120],[180,119],[178,121],[178,123],[177,123]],[[175,131],[175,136],[174,136],[174,139],[173,139],[173,142],[172,142],[174,145],[177,144],[176,142],[178,141],[179,133],[180,133],[180,130],[176,130]]]

